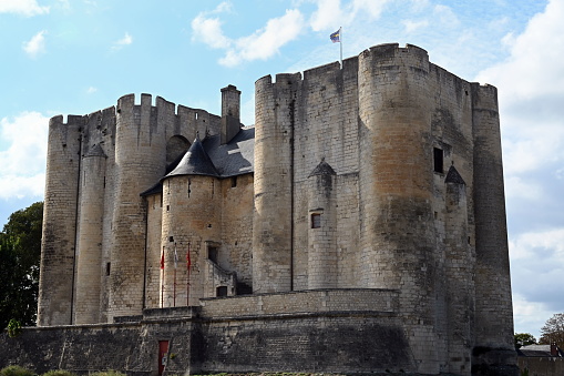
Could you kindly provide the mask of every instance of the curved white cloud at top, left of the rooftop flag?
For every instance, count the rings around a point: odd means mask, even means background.
[[[213,49],[225,50],[219,63],[226,67],[271,58],[284,44],[296,39],[304,24],[304,16],[298,10],[286,10],[283,17],[268,20],[263,29],[253,34],[229,39],[223,33],[222,21],[208,16],[229,10],[228,3],[221,3],[214,11],[202,12],[192,21],[192,39]]]

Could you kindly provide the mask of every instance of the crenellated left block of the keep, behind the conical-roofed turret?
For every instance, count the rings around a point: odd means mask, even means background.
[[[180,138],[187,145],[197,132],[219,134],[221,118],[204,110],[176,108],[158,96],[152,105],[151,95],[141,96],[141,104],[135,103],[134,95],[125,95],[117,108],[84,116],[69,115],[68,124],[62,116],[51,120],[40,325],[74,323],[75,304],[98,317],[88,318],[89,322],[140,314],[145,306],[145,204],[139,194],[162,177],[167,157],[174,157],[171,153],[182,152],[177,142],[168,143],[171,139]],[[89,191],[79,187],[78,179],[95,173],[81,161],[95,148],[105,154],[105,173],[98,176],[103,187],[96,192],[101,200],[94,204],[82,196]],[[90,222],[82,233],[84,247],[101,243],[100,262],[82,262],[78,257],[82,250],[76,248],[81,237],[79,219],[86,220],[100,209],[102,221],[96,225]],[[101,241],[86,242],[92,237],[88,232],[101,233]],[[120,273],[112,275],[112,271]],[[99,302],[92,297],[83,305],[75,301],[84,293],[82,287],[76,288],[76,282],[93,275],[99,275],[94,277],[100,281]],[[89,294],[93,293],[94,289]],[[79,317],[78,322],[86,319],[82,314]]]

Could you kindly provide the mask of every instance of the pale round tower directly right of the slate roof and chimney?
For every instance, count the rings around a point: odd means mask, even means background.
[[[293,144],[299,74],[255,84],[253,292],[291,289]]]

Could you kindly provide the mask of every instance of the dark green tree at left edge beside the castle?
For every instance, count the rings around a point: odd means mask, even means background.
[[[35,325],[43,203],[12,213],[0,232],[0,328]]]

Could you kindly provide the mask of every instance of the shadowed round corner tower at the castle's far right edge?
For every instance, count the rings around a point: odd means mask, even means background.
[[[516,368],[498,90],[472,84],[476,375]],[[496,359],[492,362],[492,359]]]

